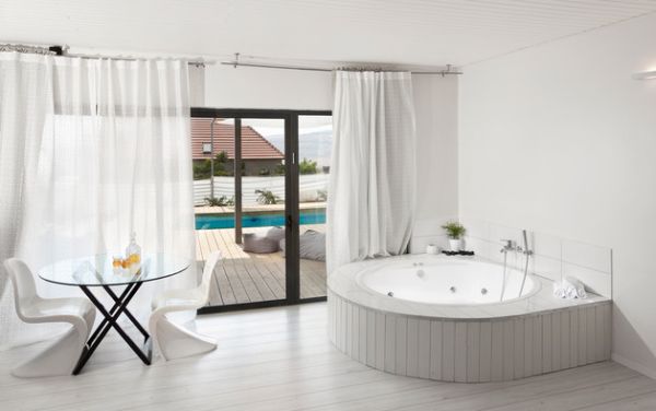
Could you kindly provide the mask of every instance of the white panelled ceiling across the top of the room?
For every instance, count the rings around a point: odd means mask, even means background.
[[[656,0],[2,0],[0,43],[465,66],[656,12]]]

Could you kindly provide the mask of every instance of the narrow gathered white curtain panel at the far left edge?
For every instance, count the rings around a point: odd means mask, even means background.
[[[49,70],[38,60],[0,52],[0,261],[16,253],[26,164],[38,153],[46,115],[51,110]],[[0,265],[0,348],[34,336],[14,313],[10,285]]]

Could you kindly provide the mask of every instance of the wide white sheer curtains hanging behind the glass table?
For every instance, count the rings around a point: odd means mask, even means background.
[[[186,62],[0,54],[0,259],[38,270],[122,253],[136,232],[143,253],[192,260]],[[192,286],[194,268],[144,285],[130,307],[145,316],[154,292]],[[0,347],[51,332],[17,321],[0,274]],[[79,293],[35,281],[44,296]]]

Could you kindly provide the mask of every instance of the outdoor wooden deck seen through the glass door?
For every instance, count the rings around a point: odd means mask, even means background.
[[[301,226],[324,231],[323,224]],[[260,228],[267,230],[267,228]],[[248,228],[247,232],[253,232]],[[285,297],[284,257],[282,254],[244,253],[234,243],[234,228],[196,231],[196,259],[202,269],[204,260],[214,250],[223,259],[214,270],[210,306],[255,303]],[[326,265],[323,261],[301,259],[301,297],[326,295]]]

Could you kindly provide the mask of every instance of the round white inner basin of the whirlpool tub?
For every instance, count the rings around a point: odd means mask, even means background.
[[[475,259],[417,258],[393,260],[365,269],[356,283],[391,298],[426,304],[495,304],[527,297],[537,292],[532,275]]]

